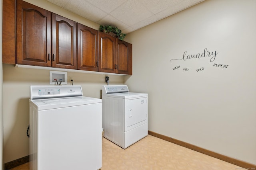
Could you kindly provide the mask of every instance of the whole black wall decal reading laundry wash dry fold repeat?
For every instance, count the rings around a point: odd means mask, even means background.
[[[174,60],[178,60],[178,61],[188,61],[188,60],[202,60],[202,59],[209,59],[210,62],[214,62],[216,59],[216,56],[218,54],[218,51],[209,51],[207,48],[204,48],[204,51],[202,51],[202,53],[196,53],[196,54],[189,54],[188,51],[184,51],[183,53],[183,57],[181,59],[171,59],[170,63]],[[214,67],[219,67],[219,68],[228,68],[227,64],[217,64],[214,63],[213,64]],[[186,66],[187,67],[187,66]],[[179,70],[179,68],[181,68],[180,65],[176,65],[175,67],[173,67],[173,70]],[[195,72],[202,72],[205,70],[205,67],[200,67],[200,68],[183,68],[183,71],[192,71],[194,70]]]

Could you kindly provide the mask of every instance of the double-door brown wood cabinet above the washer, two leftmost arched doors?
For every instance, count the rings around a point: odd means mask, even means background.
[[[16,36],[17,64],[77,68],[76,22],[17,0]]]

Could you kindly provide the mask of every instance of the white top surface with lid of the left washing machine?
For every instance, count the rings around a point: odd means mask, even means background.
[[[85,96],[70,97],[70,98],[51,98],[51,99],[37,99],[29,100],[30,104],[38,111],[47,109],[57,109],[62,107],[72,107],[88,104],[102,103],[101,99],[90,98]]]

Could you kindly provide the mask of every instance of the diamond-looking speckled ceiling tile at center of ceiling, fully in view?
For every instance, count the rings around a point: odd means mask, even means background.
[[[110,14],[128,26],[134,25],[153,15],[138,0],[127,0]]]

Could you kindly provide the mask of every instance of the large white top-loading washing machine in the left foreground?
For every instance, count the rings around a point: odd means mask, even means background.
[[[102,167],[102,100],[81,86],[30,86],[30,170]]]

